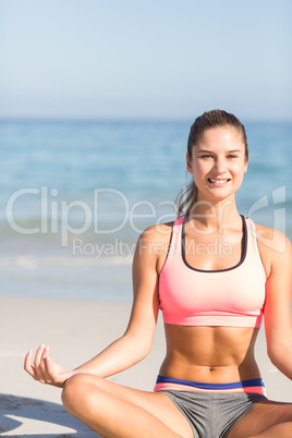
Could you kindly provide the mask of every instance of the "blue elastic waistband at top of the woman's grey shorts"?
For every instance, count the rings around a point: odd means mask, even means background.
[[[210,390],[246,388],[246,387],[265,387],[264,380],[261,378],[235,381],[232,384],[200,384],[199,381],[181,380],[181,379],[173,379],[172,377],[158,376],[156,384],[179,384],[179,385],[185,385],[188,387],[210,389]]]

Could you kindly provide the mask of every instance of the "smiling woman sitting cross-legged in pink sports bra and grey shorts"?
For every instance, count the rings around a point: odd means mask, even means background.
[[[139,238],[125,334],[73,372],[41,345],[25,358],[36,380],[63,388],[65,409],[105,437],[292,437],[292,404],[269,401],[254,357],[265,314],[268,354],[292,378],[291,244],[242,217],[235,192],[247,170],[244,126],[214,110],[191,127],[193,175],[178,219]],[[185,215],[181,216],[183,209]],[[105,377],[143,360],[159,308],[167,355],[154,392]]]

